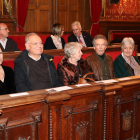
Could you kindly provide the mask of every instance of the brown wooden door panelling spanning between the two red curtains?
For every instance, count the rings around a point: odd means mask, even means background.
[[[90,10],[89,0],[30,0],[28,9],[35,10],[34,31],[51,31],[54,23],[61,23],[65,26],[65,31],[71,31],[71,23],[75,20],[80,21],[83,30],[90,28],[91,21],[87,22],[90,19],[90,15],[87,16]],[[25,26],[24,31],[31,30]]]

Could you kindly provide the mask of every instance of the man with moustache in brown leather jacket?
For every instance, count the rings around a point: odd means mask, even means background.
[[[112,57],[105,54],[107,44],[105,36],[96,35],[93,39],[93,48],[95,51],[86,58],[88,65],[99,81],[115,78]]]

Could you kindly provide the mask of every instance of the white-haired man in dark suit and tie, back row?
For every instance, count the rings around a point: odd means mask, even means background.
[[[92,36],[89,33],[82,32],[81,24],[75,21],[71,24],[73,34],[68,37],[68,42],[79,42],[83,47],[92,47]]]

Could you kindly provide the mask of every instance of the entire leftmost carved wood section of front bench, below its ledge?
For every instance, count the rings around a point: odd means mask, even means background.
[[[3,110],[0,117],[0,138],[2,140],[43,140],[47,139],[47,106],[25,105]],[[10,114],[10,115],[8,115]],[[9,117],[6,117],[9,116]],[[46,123],[46,124],[43,124]]]

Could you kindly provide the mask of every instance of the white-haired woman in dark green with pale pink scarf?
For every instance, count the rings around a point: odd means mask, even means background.
[[[140,75],[140,61],[137,57],[132,56],[134,51],[134,40],[124,38],[121,43],[122,54],[114,61],[116,78]]]

